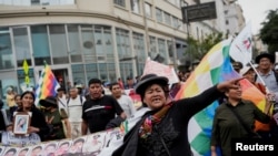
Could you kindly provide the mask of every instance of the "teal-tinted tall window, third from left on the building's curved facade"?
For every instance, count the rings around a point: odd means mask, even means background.
[[[51,63],[47,25],[32,25],[30,28],[34,64],[43,65],[43,61]]]

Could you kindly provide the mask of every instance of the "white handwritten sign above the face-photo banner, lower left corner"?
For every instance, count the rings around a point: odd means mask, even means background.
[[[4,146],[19,146],[19,147],[31,146],[41,143],[40,136],[36,133],[32,133],[28,136],[26,135],[18,136],[11,132],[3,132],[1,142],[2,145]]]

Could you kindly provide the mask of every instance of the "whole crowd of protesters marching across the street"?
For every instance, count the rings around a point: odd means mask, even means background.
[[[220,106],[216,110],[214,118],[211,155],[216,155],[216,147],[220,146],[222,155],[229,156],[230,144],[227,144],[226,141],[230,141],[234,136],[244,138],[250,132],[254,132],[264,138],[278,139],[278,127],[272,117],[276,112],[270,112],[270,107],[278,102],[278,72],[275,71],[275,56],[269,53],[262,53],[257,55],[255,62],[257,65],[242,65],[240,62],[232,62],[232,67],[266,96],[267,104],[264,111],[256,107],[256,104],[252,102],[241,97],[242,91],[238,81],[242,77],[212,86],[195,97],[196,100],[169,101],[175,97],[180,89],[179,86],[190,76],[190,73],[195,70],[192,67],[187,71],[179,71],[177,73],[179,82],[170,85],[170,87],[167,77],[155,74],[147,75],[147,77],[146,75],[142,77],[127,77],[126,84],[121,77],[112,83],[91,79],[88,82],[88,87],[76,84],[67,87],[68,90],[64,87],[58,89],[57,96],[48,96],[39,101],[40,107],[34,104],[36,96],[33,91],[26,91],[22,94],[18,94],[9,87],[6,95],[9,108],[4,110],[4,104],[0,101],[0,131],[13,131],[14,113],[18,112],[32,113],[31,124],[28,126],[27,133],[38,134],[42,142],[78,138],[82,135],[118,127],[125,119],[136,117],[138,124],[133,125],[135,129],[131,129],[127,135],[127,137],[133,135],[136,137],[132,137],[132,139],[125,137],[123,145],[113,155],[152,155],[153,153],[176,155],[180,152],[189,155],[191,152],[187,141],[187,128],[185,128],[187,127],[187,122],[185,119],[189,119],[193,114],[218,97],[224,97],[225,100],[221,101]],[[195,66],[197,65],[195,64]],[[135,105],[135,101],[132,100],[132,95],[135,94],[140,97],[142,105]],[[171,98],[168,97],[169,95]],[[199,101],[200,98],[202,101]],[[199,103],[200,107],[188,112],[187,108],[191,108],[188,103],[193,103],[195,107],[196,103]],[[176,107],[176,105],[185,106]],[[145,110],[140,112],[142,107]],[[185,110],[187,113],[177,114],[181,110]],[[148,113],[145,114],[146,112]],[[242,125],[236,122],[238,118],[235,118],[234,112],[244,118],[249,127],[248,129],[242,128]],[[249,112],[249,114],[246,114],[246,112]],[[173,117],[170,118],[176,118],[177,121],[168,121],[169,116],[165,117],[166,114],[172,115]],[[160,117],[157,118],[159,122],[148,121],[148,118],[153,118],[153,116]],[[224,117],[227,117],[227,121],[234,124],[232,128],[221,123],[221,118]],[[166,141],[166,145],[160,141],[152,141],[157,135],[166,131],[165,128],[168,126],[180,128],[181,118],[183,118],[183,125],[186,125],[182,126],[183,129],[176,132],[179,135],[162,136],[171,137],[171,139]],[[264,122],[264,128],[256,128],[255,121]],[[163,127],[157,126],[161,124],[160,122],[165,124]],[[145,123],[151,123],[151,125],[145,125]],[[179,124],[177,125],[177,123]],[[155,127],[156,129],[152,132]],[[179,144],[173,145],[173,141],[179,141]],[[136,144],[137,146],[131,147],[130,144]],[[157,148],[158,146],[160,148]],[[131,149],[137,150],[127,153]]]

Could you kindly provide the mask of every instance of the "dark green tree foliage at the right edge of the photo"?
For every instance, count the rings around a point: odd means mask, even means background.
[[[267,20],[261,23],[260,39],[268,45],[268,52],[278,52],[278,9],[270,10],[267,15]]]

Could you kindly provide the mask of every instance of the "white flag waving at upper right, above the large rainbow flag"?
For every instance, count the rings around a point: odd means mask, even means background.
[[[240,31],[230,45],[230,56],[247,65],[252,59],[252,34],[250,22]]]

